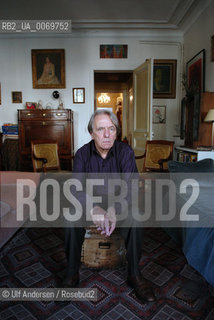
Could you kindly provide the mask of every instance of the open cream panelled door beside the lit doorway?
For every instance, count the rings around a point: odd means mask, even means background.
[[[152,139],[153,60],[148,59],[135,69],[133,77],[132,147],[136,155],[142,155],[146,141]]]

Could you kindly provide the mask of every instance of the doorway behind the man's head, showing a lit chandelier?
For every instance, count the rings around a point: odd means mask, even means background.
[[[94,71],[94,109],[111,110],[118,118],[121,134],[119,140],[128,137],[129,93],[133,89],[133,72]]]

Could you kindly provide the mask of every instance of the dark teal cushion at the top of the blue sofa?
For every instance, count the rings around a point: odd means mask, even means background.
[[[214,172],[213,159],[197,162],[168,161],[169,172]]]

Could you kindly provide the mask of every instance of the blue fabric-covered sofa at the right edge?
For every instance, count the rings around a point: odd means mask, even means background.
[[[195,188],[197,198],[191,202],[186,217],[197,215],[199,220],[190,219],[178,227],[165,230],[181,245],[188,263],[214,286],[214,161],[169,161],[168,167],[170,177],[176,184],[176,214],[179,216],[181,209],[187,202],[190,203]],[[197,184],[182,190],[181,182],[185,179],[193,179]]]

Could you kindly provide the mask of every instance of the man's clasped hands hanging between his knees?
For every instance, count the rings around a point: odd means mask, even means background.
[[[91,215],[97,230],[100,230],[101,234],[110,236],[116,227],[115,209],[110,207],[107,211],[105,211],[96,206],[93,208]]]

